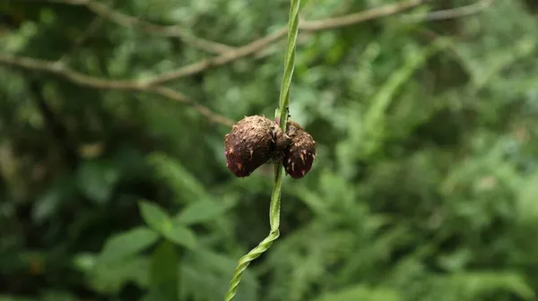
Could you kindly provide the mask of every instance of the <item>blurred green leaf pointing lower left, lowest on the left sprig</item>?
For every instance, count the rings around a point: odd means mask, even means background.
[[[108,238],[98,262],[115,262],[137,254],[153,245],[159,235],[150,228],[140,227]]]

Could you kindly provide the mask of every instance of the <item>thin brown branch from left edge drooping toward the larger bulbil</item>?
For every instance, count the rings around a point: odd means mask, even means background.
[[[99,77],[93,77],[70,70],[69,68],[65,67],[64,64],[34,59],[30,57],[17,57],[0,54],[0,64],[12,65],[34,72],[52,73],[65,78],[69,82],[74,82],[75,84],[78,84],[80,86],[98,90],[130,90],[152,92],[165,98],[177,100],[178,102],[194,107],[195,110],[198,111],[198,113],[200,113],[202,116],[206,117],[209,121],[213,123],[227,126],[233,125],[233,122],[225,116],[221,116],[217,113],[214,113],[209,108],[196,103],[193,99],[189,99],[181,92],[167,87],[149,86],[147,84],[144,84],[143,82],[108,81],[107,79],[101,79]]]

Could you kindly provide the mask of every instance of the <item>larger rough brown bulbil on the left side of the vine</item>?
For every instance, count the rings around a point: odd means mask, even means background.
[[[245,116],[224,137],[226,166],[239,177],[249,176],[273,157],[284,155],[288,135],[265,116]]]

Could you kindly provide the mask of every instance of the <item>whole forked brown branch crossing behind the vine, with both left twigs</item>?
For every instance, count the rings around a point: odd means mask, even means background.
[[[35,0],[26,0],[26,1],[35,1]],[[143,26],[146,30],[151,29],[153,32],[164,32],[166,34],[178,35],[177,27],[161,27],[158,25],[151,24],[149,22],[142,22],[137,18],[127,16],[123,13],[117,13],[108,9],[107,6],[103,4],[97,4],[91,0],[46,0],[48,2],[63,3],[63,4],[77,4],[85,5],[95,13],[99,13],[101,17],[107,18],[108,20],[113,19],[115,22],[122,24],[124,26]],[[341,17],[328,18],[320,21],[313,22],[300,22],[299,30],[306,30],[308,32],[316,32],[320,30],[333,30],[339,27],[350,26],[353,24],[358,24],[360,22],[367,22],[369,20],[374,20],[382,17],[386,17],[395,13],[403,12],[404,10],[410,9],[412,7],[418,6],[423,3],[430,2],[431,0],[408,0],[398,4],[389,4],[379,8],[370,9],[360,13],[352,13],[349,15],[344,15]],[[176,33],[174,33],[176,32]],[[10,55],[0,54],[0,64],[13,65],[21,67],[31,71],[39,71],[45,73],[53,73],[57,76],[63,77],[70,82],[74,82],[78,85],[90,87],[99,90],[134,90],[134,91],[144,91],[152,92],[163,97],[177,100],[189,106],[195,108],[200,114],[205,116],[209,121],[221,125],[231,126],[233,122],[225,116],[221,116],[217,113],[214,113],[207,107],[204,107],[196,103],[193,99],[189,99],[186,95],[178,92],[177,90],[172,90],[167,87],[160,86],[165,82],[170,82],[177,80],[182,77],[193,75],[196,73],[201,73],[204,70],[213,67],[220,66],[223,64],[228,64],[233,62],[241,57],[251,56],[256,54],[258,51],[265,49],[266,47],[272,45],[274,42],[278,41],[285,37],[288,33],[287,27],[282,27],[280,30],[261,38],[256,39],[255,41],[243,46],[233,49],[229,49],[226,52],[222,53],[220,56],[214,56],[211,59],[204,59],[193,64],[187,64],[186,66],[180,67],[176,71],[169,73],[163,73],[157,75],[150,79],[146,80],[111,80],[111,79],[102,79],[99,77],[89,76],[83,73],[76,72],[69,69],[62,64],[61,62],[49,62],[39,59],[33,59],[30,57],[17,57]]]

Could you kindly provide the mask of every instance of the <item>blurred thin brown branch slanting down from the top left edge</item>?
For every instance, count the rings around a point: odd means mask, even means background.
[[[152,22],[144,21],[140,18],[136,18],[125,13],[119,13],[110,9],[105,4],[100,4],[91,0],[25,0],[25,1],[40,1],[56,4],[70,4],[70,5],[82,5],[89,9],[91,12],[99,15],[102,19],[108,20],[109,22],[115,22],[118,25],[127,27],[127,28],[138,28],[148,33],[159,35],[162,37],[175,37],[183,40],[188,45],[197,47],[204,51],[213,53],[213,54],[222,54],[230,52],[234,47],[230,47],[221,43],[213,42],[207,39],[202,39],[195,37],[187,33],[187,30],[184,30],[182,27],[173,25],[173,26],[162,26],[154,24]]]

